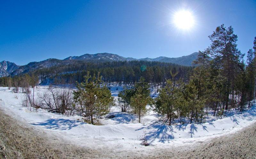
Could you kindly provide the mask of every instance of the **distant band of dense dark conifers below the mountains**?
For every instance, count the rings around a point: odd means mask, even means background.
[[[156,62],[156,61],[113,61],[105,63],[81,62],[70,65],[53,66],[50,68],[37,69],[28,74],[37,75],[41,84],[54,84],[59,80],[64,83],[76,84],[84,81],[87,72],[91,76],[98,74],[102,76],[105,84],[128,84],[132,85],[140,79],[141,76],[152,86],[164,86],[165,80],[171,78],[171,72],[178,72],[177,78],[186,81],[192,75],[193,67],[180,66],[172,63]],[[20,74],[12,76],[21,78],[25,76]],[[5,78],[5,77],[4,77]],[[9,80],[12,80],[11,78]],[[0,85],[7,86],[6,79],[0,80]],[[8,80],[7,80],[8,81]],[[156,90],[157,91],[157,90]]]

